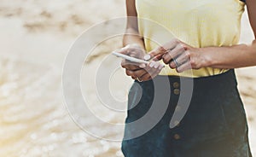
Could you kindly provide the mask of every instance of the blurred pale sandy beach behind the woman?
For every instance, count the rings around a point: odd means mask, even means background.
[[[125,16],[125,1],[108,0],[0,0],[0,157],[16,156],[123,156],[120,142],[90,136],[70,116],[61,88],[65,59],[79,35],[102,21]],[[110,25],[110,24],[109,24]],[[250,44],[247,13],[242,17],[241,43]],[[106,24],[108,26],[108,22]],[[111,25],[110,25],[111,26]],[[103,33],[103,32],[100,32]],[[108,34],[108,32],[106,32]],[[102,107],[94,77],[98,69],[108,72],[119,60],[108,58],[121,47],[121,37],[106,39],[93,50],[81,70],[82,93],[97,117],[111,124],[123,124],[125,105]],[[256,67],[237,69],[238,86],[247,111],[249,135],[256,155]],[[104,78],[102,78],[104,79]],[[131,78],[121,68],[109,79],[111,95],[125,104]],[[79,99],[74,95],[73,104]],[[77,108],[79,109],[79,108]],[[98,125],[86,111],[84,123],[90,131],[118,139],[122,126]]]

